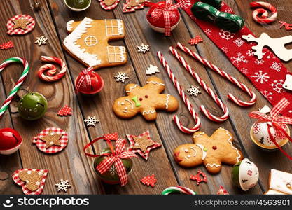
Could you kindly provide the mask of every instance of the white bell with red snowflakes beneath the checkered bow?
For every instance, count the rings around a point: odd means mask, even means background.
[[[273,150],[277,148],[277,146],[274,144],[274,142],[270,138],[269,133],[267,132],[267,128],[268,128],[267,125],[272,125],[272,123],[263,122],[260,120],[254,123],[251,127],[251,139],[256,145],[260,146],[261,148]],[[288,126],[286,126],[285,130],[290,135]],[[279,137],[276,137],[274,127],[270,128],[270,132],[272,136],[274,137],[274,140],[277,142],[277,144],[279,144],[279,146],[284,146],[284,144],[287,143],[288,141],[287,138],[281,139]]]

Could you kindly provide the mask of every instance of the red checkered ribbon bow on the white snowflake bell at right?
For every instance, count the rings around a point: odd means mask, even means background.
[[[270,122],[272,125],[267,125],[267,132],[269,133],[270,138],[272,139],[273,143],[279,148],[279,150],[284,153],[289,159],[292,160],[291,156],[288,155],[282,148],[277,144],[277,141],[274,140],[272,132],[270,131],[271,127],[274,128],[276,132],[276,137],[281,139],[288,138],[289,141],[292,142],[291,137],[286,132],[286,124],[292,124],[292,118],[279,116],[281,111],[283,111],[290,102],[286,98],[281,99],[281,101],[273,107],[272,111],[270,111],[270,116],[262,113],[260,111],[252,111],[249,113],[251,118],[255,118],[258,120],[262,120],[263,122]]]

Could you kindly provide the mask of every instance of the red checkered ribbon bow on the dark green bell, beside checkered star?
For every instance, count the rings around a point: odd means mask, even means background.
[[[85,150],[89,146],[91,146],[100,139],[106,140],[106,143],[111,148],[111,153],[104,153],[100,155],[92,155],[90,153],[85,153]],[[116,151],[113,149],[111,140],[116,140]],[[118,139],[118,133],[113,133],[105,134],[104,137],[94,139],[89,144],[86,144],[83,148],[85,155],[88,155],[90,157],[106,156],[106,158],[104,158],[104,160],[102,160],[102,162],[100,162],[99,165],[97,165],[97,170],[99,171],[99,173],[104,174],[114,164],[116,167],[116,171],[118,173],[118,177],[120,178],[120,185],[122,187],[127,184],[127,172],[121,159],[137,157],[137,155],[135,155],[132,151],[125,151],[125,144],[126,144],[125,139]]]

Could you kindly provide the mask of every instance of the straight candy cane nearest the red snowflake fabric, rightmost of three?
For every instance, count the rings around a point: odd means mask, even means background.
[[[210,69],[212,69],[213,71],[218,73],[223,78],[226,78],[226,79],[230,80],[231,83],[237,85],[237,87],[239,87],[240,89],[244,90],[244,92],[249,94],[249,96],[251,97],[249,102],[244,102],[244,101],[238,99],[237,97],[235,97],[233,94],[229,93],[228,94],[228,99],[232,100],[232,102],[235,102],[235,104],[237,104],[239,106],[252,106],[253,104],[256,103],[256,94],[253,91],[251,91],[251,89],[249,89],[249,87],[246,87],[246,85],[244,85],[243,83],[239,82],[236,78],[232,77],[230,74],[226,73],[222,69],[219,69],[214,64],[211,64],[210,62],[207,61],[207,59],[204,59],[200,55],[197,55],[197,53],[195,53],[193,50],[190,50],[189,48],[187,48],[186,46],[182,45],[181,43],[177,43],[177,46],[181,50],[183,50],[183,52],[186,52],[188,55],[190,55],[193,58],[197,59],[197,61],[201,62],[205,66],[208,66]]]

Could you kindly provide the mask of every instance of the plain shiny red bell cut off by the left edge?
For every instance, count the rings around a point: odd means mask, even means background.
[[[12,128],[0,129],[0,151],[15,148],[22,142],[20,134]]]

